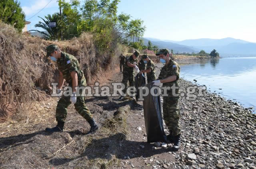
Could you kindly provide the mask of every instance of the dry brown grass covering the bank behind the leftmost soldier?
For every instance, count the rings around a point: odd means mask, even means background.
[[[14,28],[0,22],[0,120],[13,113],[27,112],[31,101],[46,100],[44,91],[51,83],[58,82],[56,64],[45,58],[45,48],[57,44],[62,51],[74,55],[80,62],[87,84],[98,80],[101,72],[115,68],[122,47],[115,53],[99,54],[93,44],[93,36],[83,33],[68,41],[45,41],[30,35],[20,35]]]

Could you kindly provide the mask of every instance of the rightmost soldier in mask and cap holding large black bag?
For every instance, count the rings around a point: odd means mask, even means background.
[[[154,85],[160,86],[163,84],[164,87],[171,87],[167,90],[168,96],[163,96],[163,114],[164,122],[168,127],[170,134],[167,136],[168,140],[174,143],[173,149],[178,150],[180,147],[180,110],[179,110],[179,88],[178,79],[180,74],[180,66],[178,63],[172,61],[170,58],[169,49],[160,49],[156,53],[160,57],[160,61],[165,63],[162,67],[159,80],[153,81]],[[176,86],[173,91],[172,86]]]

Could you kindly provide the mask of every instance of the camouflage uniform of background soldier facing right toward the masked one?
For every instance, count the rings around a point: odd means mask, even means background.
[[[135,51],[134,53],[136,53],[137,51]],[[138,53],[138,52],[137,52]],[[138,53],[139,55],[140,53]],[[138,57],[137,55],[137,57]],[[125,64],[124,64],[124,70],[123,70],[123,80],[122,83],[124,84],[124,89],[122,90],[122,92],[124,92],[124,94],[126,93],[126,89],[127,89],[127,82],[129,81],[130,86],[134,86],[134,67],[129,67],[127,65],[127,62],[130,62],[131,64],[133,64],[134,62],[137,63],[137,59],[133,59],[132,55],[130,55],[130,57],[128,59],[126,59]]]

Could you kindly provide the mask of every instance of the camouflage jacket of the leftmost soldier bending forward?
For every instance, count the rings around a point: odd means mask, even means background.
[[[59,71],[63,74],[63,78],[66,79],[66,82],[70,86],[72,86],[72,77],[70,75],[72,71],[77,72],[78,86],[86,86],[84,73],[76,57],[68,53],[61,52],[61,57],[57,60],[57,65]]]

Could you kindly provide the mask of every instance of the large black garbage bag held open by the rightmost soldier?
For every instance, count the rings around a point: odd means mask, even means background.
[[[153,83],[148,83],[146,87],[150,91]],[[157,89],[154,89],[154,93],[157,93]],[[166,142],[160,96],[152,96],[149,92],[148,96],[144,97],[143,107],[148,143],[157,141]]]

